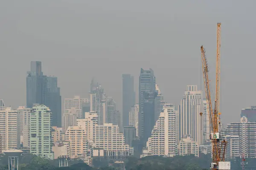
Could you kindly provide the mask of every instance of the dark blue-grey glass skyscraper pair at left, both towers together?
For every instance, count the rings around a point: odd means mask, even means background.
[[[46,105],[52,111],[52,125],[61,127],[61,95],[57,77],[47,77],[42,72],[42,62],[32,61],[26,77],[26,107],[35,103]]]

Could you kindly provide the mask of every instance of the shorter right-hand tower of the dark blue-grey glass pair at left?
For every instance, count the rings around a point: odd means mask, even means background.
[[[52,125],[61,127],[61,94],[58,88],[57,77],[47,77],[45,102],[52,112]]]

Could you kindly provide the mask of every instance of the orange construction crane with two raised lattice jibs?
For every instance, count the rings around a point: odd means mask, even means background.
[[[214,110],[212,110],[212,98],[210,92],[210,82],[208,76],[208,64],[205,49],[201,46],[202,71],[204,76],[204,88],[207,100],[207,111],[209,113],[210,139],[212,141],[212,170],[219,169],[219,162],[225,161],[226,144],[220,136],[220,113],[219,113],[219,86],[220,86],[220,47],[221,47],[221,23],[217,23],[217,57],[216,57],[216,92]]]

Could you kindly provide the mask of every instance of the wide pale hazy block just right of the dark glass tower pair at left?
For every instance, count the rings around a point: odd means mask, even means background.
[[[89,105],[89,99],[81,99],[80,96],[74,96],[73,99],[64,99],[64,113],[69,112],[71,108],[79,111],[79,118],[83,118],[83,106]]]

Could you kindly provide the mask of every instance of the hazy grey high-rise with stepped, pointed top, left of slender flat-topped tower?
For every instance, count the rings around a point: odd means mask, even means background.
[[[98,125],[108,122],[108,97],[104,89],[98,83],[95,85],[93,80],[90,91],[90,112],[98,113]]]

